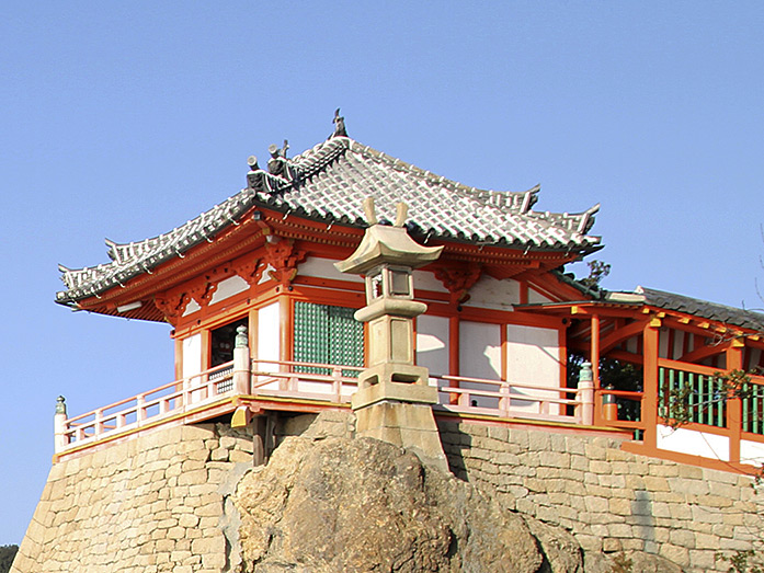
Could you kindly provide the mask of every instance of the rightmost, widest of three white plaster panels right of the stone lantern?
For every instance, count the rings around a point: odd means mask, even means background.
[[[560,387],[561,364],[560,334],[557,329],[506,325],[506,377],[511,382]],[[513,388],[512,394],[536,398],[559,398],[559,392]],[[535,400],[512,400],[512,408],[525,412],[539,412]],[[559,406],[549,404],[548,412],[559,413]]]

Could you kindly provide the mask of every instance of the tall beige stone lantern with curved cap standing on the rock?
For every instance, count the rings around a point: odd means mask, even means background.
[[[413,319],[427,306],[413,300],[412,271],[441,255],[443,247],[417,243],[403,228],[408,207],[398,204],[394,226],[380,225],[374,199],[364,210],[369,227],[361,244],[339,271],[365,276],[366,306],[355,319],[368,322],[368,368],[358,377],[352,397],[356,436],[374,437],[414,451],[422,461],[448,470],[432,404],[437,388],[429,371],[414,365]]]

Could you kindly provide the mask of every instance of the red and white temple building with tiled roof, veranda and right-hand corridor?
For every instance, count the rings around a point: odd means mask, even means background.
[[[195,219],[107,241],[107,263],[61,266],[58,303],[170,323],[175,379],[117,409],[67,417],[61,403],[57,457],[161,424],[349,408],[375,335],[354,313],[377,287],[334,263],[362,242],[373,197],[379,225],[392,225],[404,203],[408,219],[397,224],[442,248],[411,272],[413,299],[426,305],[411,319],[412,362],[436,389],[435,416],[619,433],[634,452],[725,470],[764,458],[764,379],[720,400],[719,378],[764,365],[763,316],[586,286],[563,267],[602,248],[591,234],[598,206],[535,210],[538,187],[449,181],[335,123],[300,154],[271,146],[264,168],[251,157],[247,186]],[[392,294],[406,288],[395,276],[384,286]],[[668,406],[680,394],[689,420],[672,427]]]

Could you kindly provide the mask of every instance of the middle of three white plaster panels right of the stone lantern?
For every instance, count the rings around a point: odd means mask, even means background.
[[[459,375],[468,378],[501,380],[501,325],[459,322]],[[463,388],[495,392],[498,386],[480,382],[460,382]],[[480,408],[497,408],[498,398],[474,397]]]

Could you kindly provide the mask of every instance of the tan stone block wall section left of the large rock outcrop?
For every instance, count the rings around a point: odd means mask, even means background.
[[[251,460],[251,436],[206,424],[55,463],[11,571],[226,571],[218,489]]]

